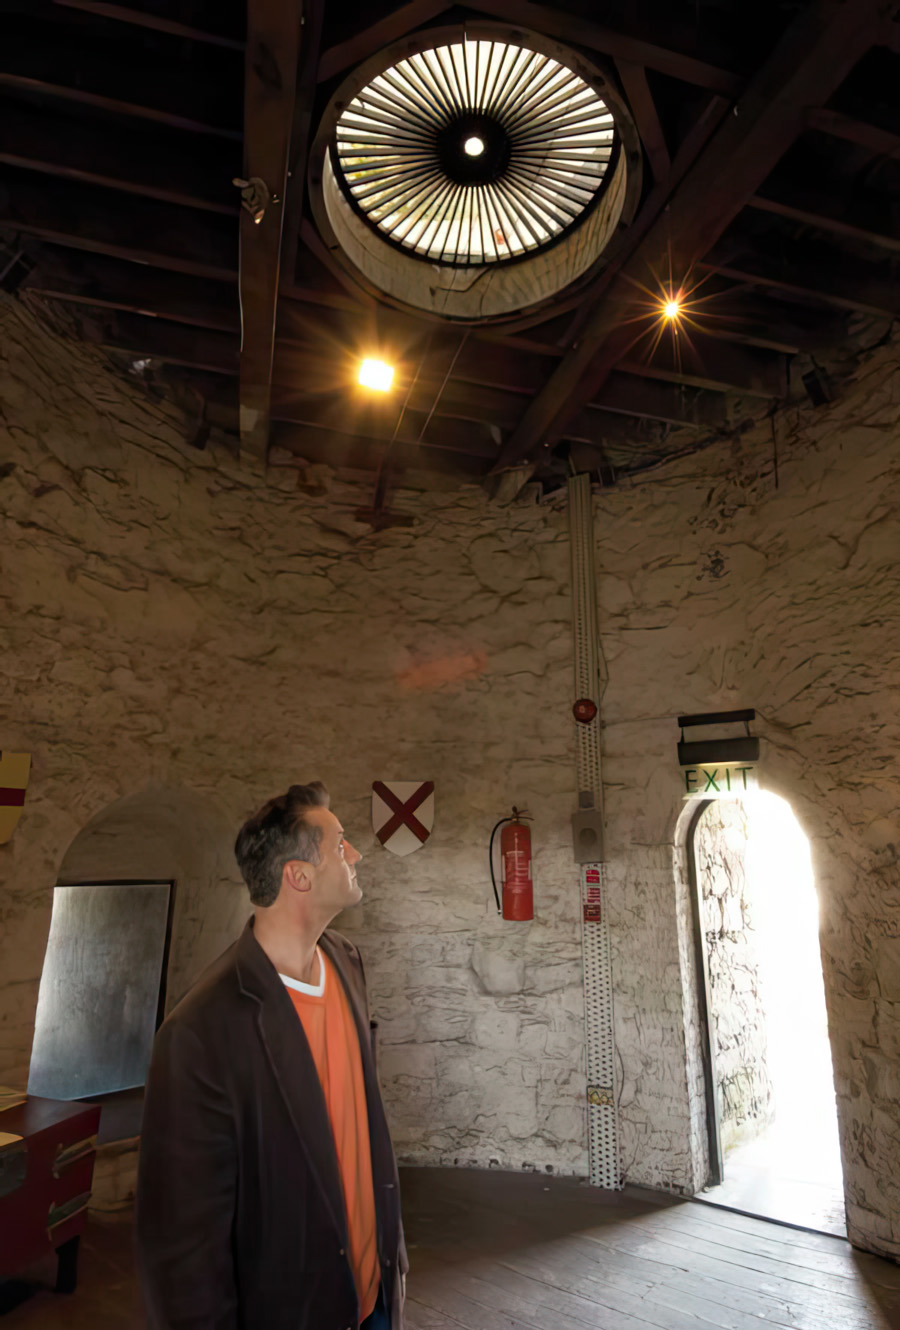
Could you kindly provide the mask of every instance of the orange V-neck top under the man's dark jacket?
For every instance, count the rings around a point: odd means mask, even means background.
[[[328,958],[319,951],[318,990],[284,980],[322,1081],[344,1189],[350,1265],[356,1281],[359,1319],[378,1302],[380,1270],[372,1185],[372,1152],[359,1035],[350,1001]]]

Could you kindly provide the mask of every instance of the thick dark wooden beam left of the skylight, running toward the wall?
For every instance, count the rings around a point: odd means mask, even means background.
[[[262,218],[241,210],[241,447],[262,466],[302,17],[302,0],[247,3],[243,178],[261,180],[269,200]]]

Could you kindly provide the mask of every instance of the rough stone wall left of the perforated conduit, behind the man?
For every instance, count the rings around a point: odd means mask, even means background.
[[[0,412],[0,746],[33,753],[0,849],[0,1080],[25,1077],[52,884],[81,829],[161,786],[234,829],[319,777],[366,855],[342,923],[400,1156],[586,1173],[562,515],[400,492],[415,528],[372,535],[356,488],[312,499],[290,472],[263,485],[185,448],[173,408],[7,299]],[[371,833],[376,778],[436,781],[408,859]],[[530,924],[496,918],[487,875],[513,802],[536,819]],[[213,870],[211,914],[234,908],[231,874]],[[179,922],[173,990],[206,958],[202,919]]]

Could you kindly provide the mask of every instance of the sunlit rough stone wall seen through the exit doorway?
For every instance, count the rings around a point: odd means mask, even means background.
[[[746,863],[747,839],[747,813],[740,803],[729,799],[710,803],[694,837],[703,894],[703,940],[723,1150],[759,1136],[775,1113]]]

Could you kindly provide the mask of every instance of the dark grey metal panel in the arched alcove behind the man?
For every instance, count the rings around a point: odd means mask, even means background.
[[[171,883],[56,887],[28,1092],[142,1085],[158,1023]]]

